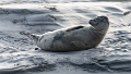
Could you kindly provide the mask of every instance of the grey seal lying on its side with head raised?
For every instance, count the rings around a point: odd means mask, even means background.
[[[97,47],[104,39],[109,21],[107,16],[90,20],[90,26],[74,26],[43,35],[29,34],[36,45],[47,51],[75,51]]]

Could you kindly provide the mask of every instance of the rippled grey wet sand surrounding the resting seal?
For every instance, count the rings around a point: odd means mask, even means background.
[[[131,2],[20,3],[0,5],[0,74],[130,74]],[[35,34],[90,25],[107,15],[104,41],[90,50],[47,52],[20,32]]]

